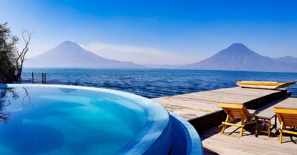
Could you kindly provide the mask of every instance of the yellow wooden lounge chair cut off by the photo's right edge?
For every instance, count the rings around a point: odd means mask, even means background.
[[[297,98],[295,98],[297,99]],[[286,99],[290,100],[290,98]],[[282,133],[290,133],[297,135],[297,132],[287,130],[287,127],[297,127],[297,103],[282,104],[281,102],[274,106],[274,112],[280,122],[279,143],[282,143]]]

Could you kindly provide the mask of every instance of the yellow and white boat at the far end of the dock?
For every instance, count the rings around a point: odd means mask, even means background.
[[[285,82],[285,83],[266,82],[266,81],[237,81],[236,84],[244,88],[280,89],[280,88],[295,84],[296,82],[297,81]]]

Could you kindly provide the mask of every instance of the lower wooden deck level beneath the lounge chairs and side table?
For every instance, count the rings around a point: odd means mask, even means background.
[[[297,103],[297,98],[286,99],[282,98],[271,102],[257,110],[274,111],[274,105],[281,101],[287,104]],[[274,119],[271,122],[274,124]],[[277,129],[278,127],[280,124],[277,120]],[[259,133],[256,138],[255,124],[246,125],[242,137],[239,135],[238,127],[228,126],[223,134],[220,133],[221,130],[222,128],[213,127],[200,134],[204,154],[297,154],[297,135],[284,134],[283,143],[280,144],[278,130],[272,130],[270,138],[267,133]]]

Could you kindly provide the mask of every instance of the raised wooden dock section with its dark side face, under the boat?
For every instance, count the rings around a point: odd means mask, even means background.
[[[224,118],[226,114],[222,108],[218,107],[218,103],[244,103],[247,108],[253,109],[282,98],[286,94],[286,89],[263,90],[234,87],[165,96],[152,100],[160,103],[168,111],[188,120],[200,133],[226,119]]]

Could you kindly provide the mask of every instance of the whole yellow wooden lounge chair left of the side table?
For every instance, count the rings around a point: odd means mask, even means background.
[[[236,127],[241,127],[240,136],[242,136],[244,125],[256,123],[256,121],[253,120],[253,118],[254,115],[258,113],[258,111],[247,110],[243,103],[219,103],[219,107],[222,107],[225,113],[227,114],[226,121],[222,122],[222,125],[219,126],[224,126],[221,133],[224,133],[227,125],[232,125]],[[241,124],[230,123],[235,119],[241,119]],[[246,121],[244,121],[244,119],[246,119]]]

